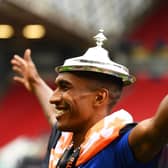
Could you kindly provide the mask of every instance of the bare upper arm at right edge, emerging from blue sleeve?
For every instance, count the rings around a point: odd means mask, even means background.
[[[168,96],[153,118],[140,122],[130,133],[129,143],[137,160],[147,162],[168,143]]]

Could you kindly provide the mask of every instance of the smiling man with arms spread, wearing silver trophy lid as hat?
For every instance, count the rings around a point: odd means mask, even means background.
[[[154,168],[167,144],[168,96],[155,116],[137,125],[124,110],[111,114],[123,87],[135,79],[109,59],[104,39],[101,32],[96,47],[56,68],[55,91],[38,75],[30,50],[12,60],[22,76],[14,80],[35,93],[54,125],[45,160],[49,168]]]

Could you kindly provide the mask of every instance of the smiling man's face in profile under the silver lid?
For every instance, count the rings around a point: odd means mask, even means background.
[[[93,108],[95,91],[89,89],[91,81],[73,73],[60,73],[56,78],[56,90],[50,103],[55,105],[57,126],[63,131],[88,129],[95,121]]]

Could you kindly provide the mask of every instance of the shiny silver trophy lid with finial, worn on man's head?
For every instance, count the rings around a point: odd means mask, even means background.
[[[135,82],[135,77],[129,74],[127,67],[112,61],[102,45],[106,40],[103,30],[94,36],[96,47],[89,48],[84,55],[66,59],[62,66],[56,67],[56,71],[90,71],[108,74],[121,78],[124,85],[129,85]]]

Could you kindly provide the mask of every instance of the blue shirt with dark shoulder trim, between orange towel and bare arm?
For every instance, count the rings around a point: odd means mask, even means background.
[[[156,160],[148,162],[147,164],[141,164],[138,162],[130,148],[128,137],[132,128],[136,123],[128,124],[120,131],[120,136],[115,141],[110,143],[101,152],[95,155],[80,168],[102,168],[102,167],[143,167],[154,168]]]

